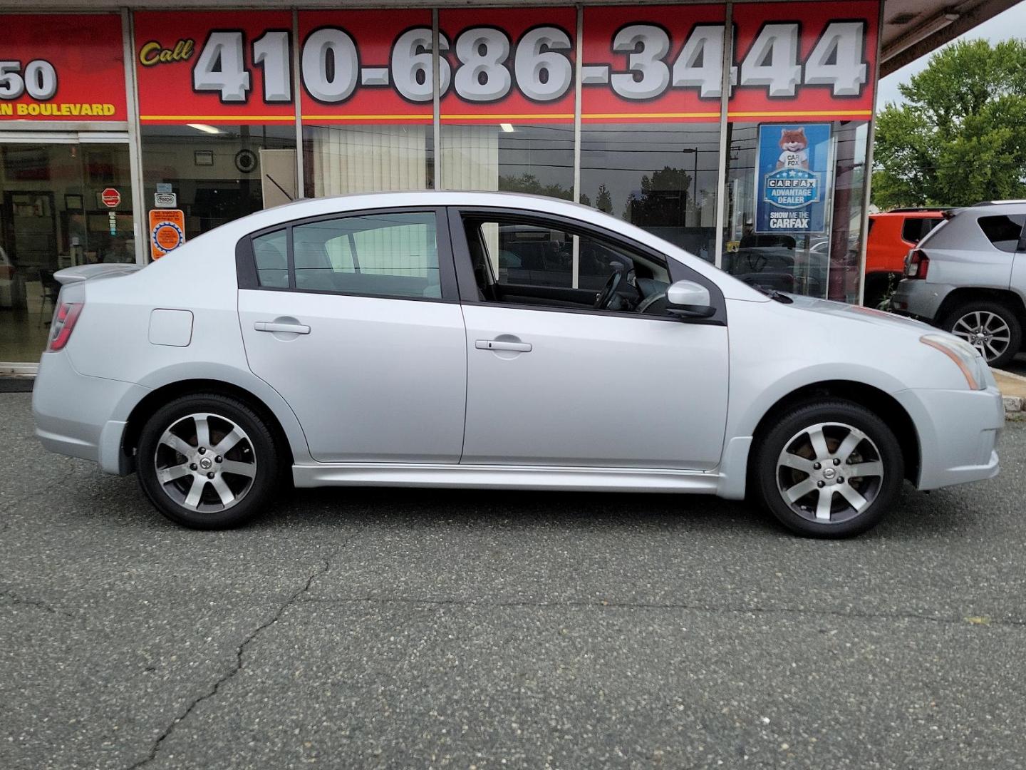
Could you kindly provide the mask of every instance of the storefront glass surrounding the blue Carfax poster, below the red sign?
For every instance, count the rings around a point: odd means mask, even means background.
[[[801,234],[756,232],[759,124],[731,123],[726,130],[723,269],[752,285],[857,302],[868,123],[831,124],[824,229]]]

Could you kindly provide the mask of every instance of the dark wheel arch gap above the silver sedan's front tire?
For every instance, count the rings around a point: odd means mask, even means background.
[[[759,419],[752,433],[753,450],[765,435],[775,418],[799,403],[828,398],[843,398],[869,410],[894,430],[905,463],[905,477],[915,483],[919,476],[921,450],[915,422],[898,400],[884,390],[852,380],[824,380],[802,385],[777,399]],[[755,452],[748,453],[747,471],[751,476]]]

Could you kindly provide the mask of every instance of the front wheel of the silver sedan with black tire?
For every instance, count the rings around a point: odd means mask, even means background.
[[[856,440],[861,431],[869,440],[859,439],[850,458],[833,465],[832,460],[827,461],[827,456],[816,453],[810,433],[804,432],[824,423],[828,425],[820,433],[830,450],[830,457],[833,452],[843,450],[849,433],[852,440]],[[845,431],[844,427],[855,430]],[[879,417],[853,401],[830,399],[794,407],[781,415],[756,441],[750,477],[755,497],[781,524],[799,535],[820,538],[859,535],[880,521],[901,489],[905,463],[898,439]],[[817,458],[824,462],[815,466],[816,470],[810,467],[807,472],[782,467],[779,461],[785,449],[791,450],[789,461],[794,457],[810,466]],[[854,467],[849,464],[850,459],[855,460],[858,468],[867,470],[879,463],[881,475],[844,478],[844,469]],[[830,474],[830,479],[824,480],[824,474]],[[785,499],[785,490],[798,492],[806,486],[813,489],[793,503]],[[861,498],[868,505],[859,510],[850,503],[847,496],[853,492],[856,499]],[[815,510],[823,497],[829,500],[826,519],[817,518]]]

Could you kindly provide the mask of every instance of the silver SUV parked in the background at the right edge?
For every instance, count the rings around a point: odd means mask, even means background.
[[[991,367],[1022,350],[1026,322],[1026,201],[946,211],[909,252],[895,312],[960,337]]]

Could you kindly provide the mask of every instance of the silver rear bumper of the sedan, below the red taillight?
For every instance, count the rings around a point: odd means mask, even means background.
[[[43,447],[91,460],[108,473],[130,469],[121,451],[131,408],[149,390],[80,374],[63,353],[43,353],[32,391],[32,416]]]

